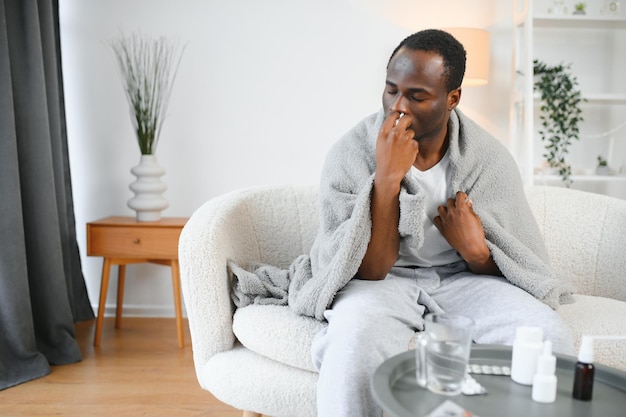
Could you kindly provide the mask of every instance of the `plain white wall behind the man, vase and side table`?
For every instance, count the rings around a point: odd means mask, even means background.
[[[139,150],[106,44],[119,30],[187,44],[156,155],[167,169],[163,215],[189,216],[234,189],[316,183],[332,143],[379,108],[393,48],[427,27],[491,32],[490,83],[465,89],[461,107],[507,143],[511,8],[495,0],[60,0],[78,243],[92,304],[102,260],[86,256],[85,224],[134,215],[126,201]],[[173,316],[169,274],[129,266],[125,313]],[[108,306],[114,294],[112,280]]]

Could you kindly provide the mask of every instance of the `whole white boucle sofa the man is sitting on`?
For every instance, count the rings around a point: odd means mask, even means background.
[[[583,334],[626,335],[626,200],[539,186],[527,195],[555,273],[576,288],[576,302],[559,309],[576,343]],[[235,309],[227,261],[288,267],[313,243],[317,207],[316,186],[235,191],[201,206],[180,236],[198,381],[244,416],[316,415],[309,350],[324,324],[283,306]],[[626,343],[596,342],[595,359],[626,371]]]

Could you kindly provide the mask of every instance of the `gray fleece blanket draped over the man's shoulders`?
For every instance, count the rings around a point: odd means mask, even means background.
[[[320,226],[310,254],[288,270],[271,265],[243,269],[230,263],[237,307],[287,304],[323,320],[335,294],[357,273],[371,233],[370,196],[376,170],[379,111],[350,130],[330,150],[320,182]],[[549,268],[547,251],[524,194],[517,165],[506,148],[458,109],[449,122],[452,188],[471,197],[487,245],[512,284],[552,308],[571,302]],[[407,175],[400,192],[401,239],[421,247],[423,191]],[[390,274],[404,275],[394,267]]]

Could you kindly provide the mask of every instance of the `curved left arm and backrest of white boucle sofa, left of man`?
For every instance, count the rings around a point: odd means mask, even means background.
[[[212,356],[235,346],[228,262],[287,268],[308,253],[317,224],[316,185],[238,190],[192,214],[178,241],[178,260],[198,375]]]

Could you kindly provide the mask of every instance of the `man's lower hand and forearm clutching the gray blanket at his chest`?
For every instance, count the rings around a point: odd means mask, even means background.
[[[433,219],[439,232],[474,273],[502,275],[496,266],[487,243],[480,218],[472,207],[472,200],[462,191],[448,199],[448,205],[437,208],[439,215]]]

